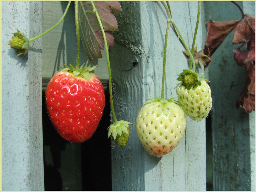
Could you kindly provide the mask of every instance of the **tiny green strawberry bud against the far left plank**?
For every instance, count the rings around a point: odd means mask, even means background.
[[[29,49],[29,40],[28,38],[21,33],[18,29],[16,33],[12,33],[14,36],[9,41],[8,45],[12,48],[16,49],[16,53],[19,53],[17,56],[21,54],[26,54]]]

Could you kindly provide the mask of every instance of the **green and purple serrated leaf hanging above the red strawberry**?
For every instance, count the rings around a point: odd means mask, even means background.
[[[121,12],[121,6],[118,1],[95,1],[93,3],[102,22],[107,44],[113,45],[114,38],[110,31],[118,29],[117,21],[113,13]],[[104,40],[98,19],[89,1],[79,2],[78,12],[80,34],[84,50],[89,60],[95,62],[94,57],[101,58],[100,49],[104,50]]]

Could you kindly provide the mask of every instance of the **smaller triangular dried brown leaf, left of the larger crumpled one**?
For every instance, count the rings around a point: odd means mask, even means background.
[[[240,20],[232,21],[214,21],[210,16],[210,21],[206,23],[207,36],[205,39],[204,54],[211,58],[211,55],[216,51],[228,34],[236,27]],[[209,66],[211,60],[209,60],[205,69]]]

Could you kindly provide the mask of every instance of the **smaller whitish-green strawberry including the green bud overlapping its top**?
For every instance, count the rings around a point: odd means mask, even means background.
[[[201,77],[195,72],[184,70],[178,78],[182,82],[176,88],[178,101],[186,115],[197,121],[206,118],[212,108],[211,89],[206,82],[208,80]]]

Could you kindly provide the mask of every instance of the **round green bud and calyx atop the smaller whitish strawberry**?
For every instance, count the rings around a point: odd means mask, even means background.
[[[184,69],[182,73],[178,75],[177,78],[178,81],[181,81],[181,85],[185,87],[185,89],[191,89],[196,88],[197,86],[201,85],[201,80],[205,80],[206,82],[209,82],[206,79],[203,79],[203,75],[200,77],[195,73],[194,71],[191,71],[189,69]]]

